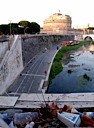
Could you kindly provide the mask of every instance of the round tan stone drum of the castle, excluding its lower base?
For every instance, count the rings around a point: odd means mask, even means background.
[[[72,20],[69,15],[62,15],[61,13],[54,13],[43,22],[43,30],[45,31],[60,31],[70,30]]]

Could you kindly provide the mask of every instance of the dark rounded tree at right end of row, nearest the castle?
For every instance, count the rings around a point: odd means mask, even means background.
[[[40,25],[37,24],[36,22],[31,22],[29,28],[30,28],[31,34],[35,34],[35,33],[40,32]]]

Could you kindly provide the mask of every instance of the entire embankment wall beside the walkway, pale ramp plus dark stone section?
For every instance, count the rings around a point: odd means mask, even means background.
[[[15,35],[14,40],[3,43],[0,64],[0,94],[15,81],[31,59],[45,48],[50,49],[61,41],[73,40],[73,35]],[[6,40],[5,40],[6,41]],[[11,46],[11,47],[10,47]]]

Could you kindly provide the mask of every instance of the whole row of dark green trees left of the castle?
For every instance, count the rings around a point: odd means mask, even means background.
[[[40,25],[36,22],[29,22],[26,20],[21,20],[18,23],[9,23],[0,25],[0,34],[35,34],[40,32]]]

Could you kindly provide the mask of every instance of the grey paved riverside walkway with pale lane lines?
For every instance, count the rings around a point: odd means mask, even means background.
[[[41,93],[41,81],[49,76],[49,68],[57,53],[56,46],[44,53],[38,54],[24,68],[15,82],[8,88],[8,95],[16,96],[21,93]],[[45,74],[45,71],[47,74]]]

